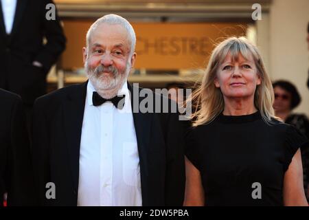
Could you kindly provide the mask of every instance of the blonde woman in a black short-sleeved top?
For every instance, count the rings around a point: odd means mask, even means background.
[[[299,151],[308,140],[275,118],[257,47],[220,43],[192,99],[185,206],[308,206]]]

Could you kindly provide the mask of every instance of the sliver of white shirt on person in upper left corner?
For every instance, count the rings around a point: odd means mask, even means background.
[[[17,0],[1,0],[5,31],[12,32]]]

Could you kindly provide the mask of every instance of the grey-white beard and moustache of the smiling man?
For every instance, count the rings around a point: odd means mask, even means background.
[[[130,63],[126,63],[126,69],[122,73],[119,73],[115,66],[104,67],[99,65],[92,69],[89,67],[88,61],[85,62],[84,69],[98,94],[103,98],[113,98],[117,96],[119,89],[121,89],[122,85],[126,82],[126,78],[128,78]],[[104,72],[110,74],[103,75],[102,73]]]

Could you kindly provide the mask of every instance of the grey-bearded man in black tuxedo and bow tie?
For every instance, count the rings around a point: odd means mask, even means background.
[[[89,80],[36,100],[33,164],[41,205],[182,206],[179,115],[140,109],[142,89],[127,82],[135,42],[126,19],[98,19],[83,48]],[[151,95],[153,108],[166,101]]]

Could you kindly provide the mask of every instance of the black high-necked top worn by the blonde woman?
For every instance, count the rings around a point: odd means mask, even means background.
[[[186,156],[201,173],[205,206],[282,206],[284,173],[306,137],[267,124],[259,111],[218,115],[185,135]]]

